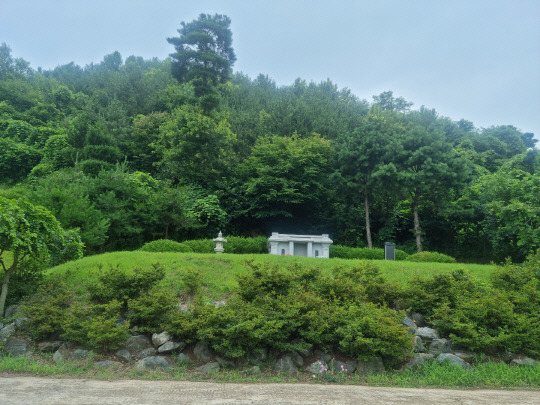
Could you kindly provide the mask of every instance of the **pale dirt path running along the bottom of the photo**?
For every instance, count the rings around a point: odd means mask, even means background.
[[[314,384],[216,384],[0,376],[2,405],[486,404],[538,405],[540,391],[376,388]]]

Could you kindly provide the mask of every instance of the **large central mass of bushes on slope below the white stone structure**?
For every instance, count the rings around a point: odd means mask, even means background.
[[[390,289],[372,266],[361,263],[355,270],[359,279],[373,272],[372,285],[355,284],[351,293],[329,289],[341,286],[341,280],[318,269],[296,265],[285,271],[249,263],[250,271],[238,276],[237,294],[226,305],[198,302],[191,312],[173,313],[168,330],[186,340],[206,340],[233,358],[264,347],[283,352],[317,346],[398,361],[410,353],[411,337],[401,325],[402,312],[369,302],[369,288]]]

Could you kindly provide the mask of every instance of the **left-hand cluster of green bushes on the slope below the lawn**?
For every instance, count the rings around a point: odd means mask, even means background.
[[[137,310],[135,320],[163,324],[166,311],[172,309],[171,295],[149,290],[164,276],[165,270],[159,264],[131,273],[110,268],[90,285],[94,302],[76,297],[65,282],[53,278],[21,306],[22,315],[29,319],[27,332],[38,340],[62,338],[89,348],[117,349],[131,335],[129,320],[122,319],[128,307]]]

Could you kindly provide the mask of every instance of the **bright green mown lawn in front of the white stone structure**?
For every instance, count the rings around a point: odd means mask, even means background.
[[[275,256],[269,254],[203,254],[203,253],[150,253],[150,252],[114,252],[85,257],[47,270],[49,275],[63,275],[72,285],[83,286],[96,279],[99,269],[119,267],[130,271],[135,268],[150,267],[160,263],[165,267],[167,276],[163,283],[173,288],[180,288],[182,277],[187,269],[199,270],[203,274],[203,286],[206,294],[219,299],[227,296],[236,286],[236,275],[246,271],[246,261],[269,264],[286,269],[298,263],[303,267],[318,267],[323,273],[330,273],[335,266],[355,266],[359,260],[315,259],[307,257]],[[405,261],[374,260],[381,273],[389,281],[405,284],[416,276],[430,277],[437,273],[463,269],[472,273],[479,281],[487,281],[495,269],[493,265],[460,263],[414,263]]]

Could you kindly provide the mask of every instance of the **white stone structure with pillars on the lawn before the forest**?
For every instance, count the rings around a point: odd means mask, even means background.
[[[291,235],[272,232],[270,254],[282,256],[330,257],[332,239],[323,235]]]

